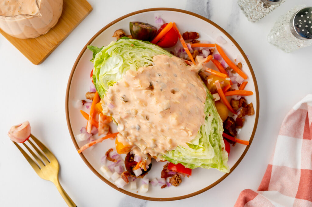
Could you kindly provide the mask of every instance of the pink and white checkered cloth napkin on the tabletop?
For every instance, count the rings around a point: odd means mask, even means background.
[[[234,207],[312,207],[312,94],[285,117],[257,191],[241,191]]]

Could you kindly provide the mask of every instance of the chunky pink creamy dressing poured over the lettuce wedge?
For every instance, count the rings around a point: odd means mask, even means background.
[[[101,100],[118,124],[118,141],[134,154],[157,156],[187,146],[204,123],[206,89],[198,66],[158,55],[154,65],[128,70]]]

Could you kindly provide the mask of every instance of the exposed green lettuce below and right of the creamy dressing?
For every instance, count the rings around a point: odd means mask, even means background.
[[[228,154],[222,137],[222,120],[217,113],[212,95],[207,89],[205,102],[205,123],[201,126],[195,139],[188,147],[178,146],[167,152],[162,158],[174,164],[181,163],[188,168],[217,168],[221,172],[229,172]]]

